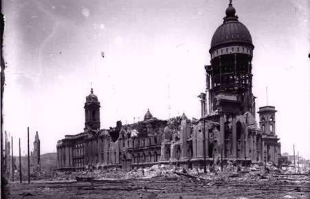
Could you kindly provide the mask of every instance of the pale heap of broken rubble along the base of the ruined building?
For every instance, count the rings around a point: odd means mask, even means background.
[[[306,172],[306,171],[303,171]],[[309,171],[308,171],[309,172]],[[293,177],[292,177],[293,176]],[[139,168],[133,170],[123,170],[120,168],[95,169],[93,171],[78,172],[55,172],[53,178],[49,180],[75,180],[76,178],[103,179],[149,179],[149,178],[196,178],[197,180],[222,181],[222,182],[276,182],[282,180],[287,183],[296,184],[309,181],[309,176],[292,175],[290,170],[283,171],[267,163],[264,165],[252,164],[250,167],[243,167],[228,163],[223,166],[214,165],[203,169],[183,169],[175,165],[153,165],[152,167]]]

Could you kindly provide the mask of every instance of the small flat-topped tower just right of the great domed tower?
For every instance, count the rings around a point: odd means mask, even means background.
[[[263,134],[276,135],[276,109],[273,106],[259,107],[258,114]]]

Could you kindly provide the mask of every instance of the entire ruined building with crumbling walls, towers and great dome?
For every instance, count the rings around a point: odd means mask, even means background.
[[[86,97],[84,132],[57,143],[60,170],[90,165],[132,169],[154,164],[202,167],[213,160],[278,163],[276,109],[260,107],[256,121],[252,93],[252,37],[230,2],[223,23],[212,36],[206,92],[199,94],[201,118],[185,114],[166,121],[148,110],[144,121],[100,129],[100,102],[93,90]]]

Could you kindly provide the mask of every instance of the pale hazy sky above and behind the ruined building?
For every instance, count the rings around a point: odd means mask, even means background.
[[[253,92],[274,105],[282,152],[310,158],[310,1],[235,0],[254,43]],[[153,116],[200,117],[211,38],[228,1],[3,1],[3,127],[14,151],[35,132],[41,153],[56,151],[85,123],[85,97],[101,103],[101,128]],[[104,57],[101,56],[104,52]],[[169,109],[170,107],[170,109]],[[31,144],[31,147],[33,145]],[[16,153],[16,152],[15,152]]]

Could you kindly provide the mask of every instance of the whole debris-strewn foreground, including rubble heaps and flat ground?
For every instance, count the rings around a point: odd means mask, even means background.
[[[80,180],[83,177],[74,179],[82,174],[85,180]],[[187,171],[171,165],[154,165],[135,171],[111,169],[104,172],[77,172],[30,184],[10,182],[9,191],[10,198],[45,199],[310,198],[309,178],[309,172],[290,174],[284,171],[255,171],[253,167],[242,167],[239,171],[215,168],[215,172],[203,174],[199,169]]]

